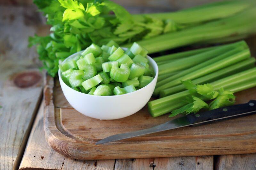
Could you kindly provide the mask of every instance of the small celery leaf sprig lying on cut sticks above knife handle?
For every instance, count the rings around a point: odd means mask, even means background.
[[[178,114],[188,115],[196,113],[201,109],[218,109],[220,107],[230,106],[235,103],[236,96],[233,92],[220,88],[214,90],[213,86],[209,83],[196,85],[191,80],[182,81],[182,84],[189,90],[190,96],[186,99],[185,106],[173,110],[169,117],[174,117]],[[204,101],[212,100],[209,104]]]

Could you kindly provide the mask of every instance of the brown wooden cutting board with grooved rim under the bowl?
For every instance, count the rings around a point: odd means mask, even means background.
[[[236,93],[236,96],[237,104],[246,103],[256,99],[256,88]],[[168,114],[151,117],[147,106],[117,120],[86,117],[69,105],[58,79],[54,82],[47,76],[45,81],[45,137],[54,150],[67,157],[123,159],[256,152],[256,115],[95,145],[110,135],[149,128],[171,119]]]

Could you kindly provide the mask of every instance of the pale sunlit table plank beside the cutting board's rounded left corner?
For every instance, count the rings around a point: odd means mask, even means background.
[[[55,152],[44,138],[44,107],[41,104],[19,169],[61,169],[65,156]]]

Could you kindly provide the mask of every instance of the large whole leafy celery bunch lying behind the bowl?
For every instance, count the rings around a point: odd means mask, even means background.
[[[59,60],[92,43],[83,56],[93,53],[98,57],[102,53],[98,47],[107,43],[111,48],[102,50],[112,54],[118,44],[131,43],[127,46],[132,46],[132,42],[138,40],[142,40],[138,44],[144,48],[132,48],[132,51],[137,54],[139,50],[140,55],[145,56],[148,52],[198,42],[234,41],[255,32],[251,22],[255,20],[253,1],[215,2],[177,12],[139,15],[131,15],[108,0],[34,0],[34,3],[52,27],[48,36],[30,37],[29,46],[37,45],[43,68],[52,76],[58,71]],[[134,57],[132,52],[125,53]]]

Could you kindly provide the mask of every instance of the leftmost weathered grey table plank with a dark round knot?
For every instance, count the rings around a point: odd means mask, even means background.
[[[42,74],[28,36],[41,23],[27,7],[0,6],[0,167],[17,168],[42,94]],[[35,18],[34,18],[35,17]]]

